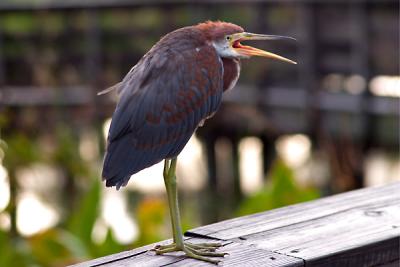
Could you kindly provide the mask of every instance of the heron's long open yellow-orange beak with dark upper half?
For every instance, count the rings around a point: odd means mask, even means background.
[[[278,35],[264,35],[264,34],[256,34],[249,32],[241,32],[235,33],[231,36],[231,46],[232,48],[241,56],[250,57],[250,56],[260,56],[272,58],[280,61],[285,61],[291,64],[297,64],[295,61],[282,57],[280,55],[267,52],[255,47],[242,45],[240,42],[245,40],[296,40],[292,37],[287,36],[278,36]]]

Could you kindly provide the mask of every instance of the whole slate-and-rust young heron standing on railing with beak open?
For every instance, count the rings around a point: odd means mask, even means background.
[[[244,32],[235,24],[205,22],[164,36],[143,56],[117,89],[120,99],[108,133],[102,177],[119,189],[132,174],[162,160],[171,214],[173,243],[157,246],[157,254],[183,251],[186,256],[216,263],[205,256],[224,256],[218,243],[183,240],[175,169],[177,157],[197,127],[214,115],[222,93],[240,73],[240,59],[261,56],[296,64],[251,46],[246,40],[293,39]],[[100,93],[101,94],[101,93]]]

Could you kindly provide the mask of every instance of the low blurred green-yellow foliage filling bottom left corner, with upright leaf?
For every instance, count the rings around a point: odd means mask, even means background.
[[[92,240],[100,192],[100,182],[94,180],[79,199],[65,229],[60,225],[29,238],[11,238],[9,233],[0,231],[0,266],[66,266],[126,249],[110,229],[99,244]]]

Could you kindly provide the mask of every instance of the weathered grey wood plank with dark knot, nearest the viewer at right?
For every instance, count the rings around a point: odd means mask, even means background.
[[[399,224],[400,199],[392,206],[347,210],[242,239],[259,248],[302,258],[307,265],[345,266],[346,261],[352,263],[348,266],[374,266],[399,259]]]

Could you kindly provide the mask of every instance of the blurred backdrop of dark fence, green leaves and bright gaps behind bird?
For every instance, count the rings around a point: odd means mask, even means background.
[[[105,188],[120,81],[164,34],[205,20],[297,66],[246,60],[179,158],[185,229],[400,180],[399,3],[0,2],[0,266],[64,266],[169,238],[162,165]]]

